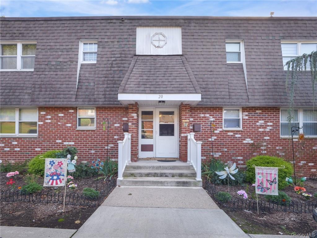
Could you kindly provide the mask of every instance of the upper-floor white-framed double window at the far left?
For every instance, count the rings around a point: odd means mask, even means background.
[[[0,69],[2,71],[33,70],[35,42],[7,42],[0,45]]]

